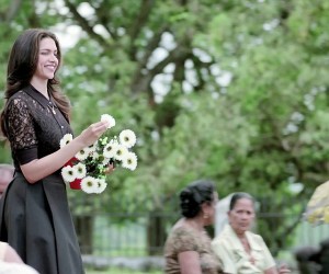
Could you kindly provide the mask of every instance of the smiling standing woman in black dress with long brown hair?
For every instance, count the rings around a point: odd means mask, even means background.
[[[0,240],[41,274],[84,273],[67,201],[61,167],[92,145],[107,122],[90,125],[67,146],[70,104],[57,89],[60,65],[56,36],[32,28],[15,41],[8,64],[1,130],[15,175],[0,203]]]

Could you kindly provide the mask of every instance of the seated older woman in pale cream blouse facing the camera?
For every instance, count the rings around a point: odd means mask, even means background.
[[[254,199],[243,192],[231,196],[229,225],[212,242],[224,273],[227,274],[285,274],[285,266],[276,269],[263,238],[249,231],[254,219]]]

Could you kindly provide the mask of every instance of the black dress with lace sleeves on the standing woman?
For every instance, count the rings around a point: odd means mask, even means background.
[[[41,274],[81,274],[80,249],[60,170],[30,184],[20,164],[59,149],[71,133],[61,112],[33,87],[10,98],[5,121],[15,175],[0,201],[0,240]],[[55,105],[56,106],[56,105]]]

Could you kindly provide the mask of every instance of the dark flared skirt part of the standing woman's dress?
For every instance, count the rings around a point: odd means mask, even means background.
[[[84,273],[60,174],[34,184],[15,174],[0,199],[0,240],[41,274]]]

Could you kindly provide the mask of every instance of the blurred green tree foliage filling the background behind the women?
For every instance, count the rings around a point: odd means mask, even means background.
[[[328,1],[0,3],[2,87],[20,31],[76,26],[60,70],[75,132],[110,113],[113,134],[138,136],[137,170],[117,169],[99,198],[70,192],[77,213],[173,209],[186,183],[211,178],[220,196],[247,191],[262,210],[292,214],[259,222],[274,251],[288,243],[328,178]]]

